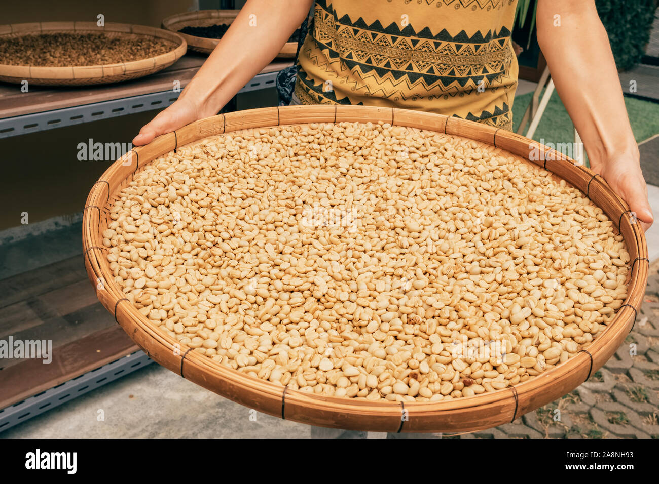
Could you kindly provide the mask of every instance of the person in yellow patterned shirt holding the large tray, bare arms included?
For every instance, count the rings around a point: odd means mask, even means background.
[[[419,109],[512,129],[515,0],[319,0],[291,104]],[[179,100],[133,144],[213,116],[279,52],[311,0],[248,0]],[[255,15],[255,16],[254,16]],[[254,22],[256,20],[256,22]],[[653,217],[594,0],[538,0],[538,43],[590,160],[643,229]]]

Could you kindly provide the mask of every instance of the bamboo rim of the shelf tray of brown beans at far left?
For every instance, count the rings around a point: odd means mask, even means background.
[[[117,24],[109,22],[103,27],[96,22],[32,22],[29,24],[0,25],[0,37],[12,38],[34,34],[98,34],[109,37],[138,38],[155,37],[173,43],[171,51],[117,64],[39,67],[0,64],[0,80],[20,84],[27,80],[30,84],[42,86],[89,86],[109,84],[136,79],[153,74],[171,66],[185,54],[187,43],[179,34],[144,25]]]

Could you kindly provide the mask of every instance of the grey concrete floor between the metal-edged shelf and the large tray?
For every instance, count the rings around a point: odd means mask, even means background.
[[[0,438],[301,439],[311,435],[311,427],[301,423],[265,414],[252,420],[249,408],[152,363],[0,433]]]

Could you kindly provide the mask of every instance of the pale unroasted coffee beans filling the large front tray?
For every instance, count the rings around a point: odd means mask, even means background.
[[[140,165],[103,230],[108,282],[167,338],[291,390],[505,389],[577,354],[627,295],[600,209],[463,138],[312,123]]]

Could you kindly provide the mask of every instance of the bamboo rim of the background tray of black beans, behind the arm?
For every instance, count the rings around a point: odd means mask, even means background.
[[[193,51],[210,54],[219,43],[219,39],[191,36],[179,32],[183,27],[210,27],[215,24],[229,25],[238,16],[240,10],[200,10],[196,12],[177,13],[168,16],[162,22],[166,30],[176,32],[183,37],[188,48]],[[277,57],[282,59],[293,59],[297,51],[297,42],[287,42],[281,47]]]

